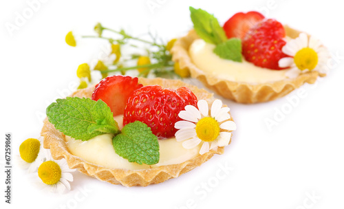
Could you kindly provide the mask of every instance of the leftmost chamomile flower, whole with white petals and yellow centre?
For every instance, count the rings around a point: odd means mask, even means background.
[[[40,138],[29,138],[19,146],[19,154],[17,164],[21,168],[27,169],[28,173],[33,173],[45,161],[46,150],[43,148],[43,142]]]

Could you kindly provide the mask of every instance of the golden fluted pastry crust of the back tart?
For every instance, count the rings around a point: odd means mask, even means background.
[[[301,32],[294,30],[288,25],[284,26],[287,36],[296,38]],[[325,76],[325,74],[319,74],[319,72],[312,71],[300,74],[294,79],[279,80],[273,83],[262,83],[252,85],[249,83],[239,83],[230,80],[223,80],[219,77],[206,74],[201,69],[196,67],[191,57],[189,56],[189,47],[195,39],[200,39],[194,30],[191,30],[189,34],[175,41],[171,52],[173,54],[173,61],[179,62],[180,67],[187,67],[190,70],[191,77],[197,78],[202,83],[216,91],[217,94],[234,100],[240,103],[257,103],[267,102],[275,100],[289,94],[294,89],[301,87],[304,83],[314,83],[318,76]]]

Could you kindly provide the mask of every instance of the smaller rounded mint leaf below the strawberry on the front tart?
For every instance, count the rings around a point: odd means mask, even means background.
[[[116,135],[112,143],[116,153],[129,162],[147,165],[159,162],[158,137],[143,122],[136,121],[124,126],[122,133]]]

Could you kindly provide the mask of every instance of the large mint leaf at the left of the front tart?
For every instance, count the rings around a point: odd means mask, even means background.
[[[119,133],[110,108],[102,100],[77,97],[57,99],[47,107],[47,118],[56,129],[76,140]]]

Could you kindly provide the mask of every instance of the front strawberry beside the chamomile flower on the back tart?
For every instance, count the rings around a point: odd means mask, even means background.
[[[268,69],[283,69],[279,60],[287,55],[282,52],[286,45],[286,31],[275,19],[267,19],[250,28],[242,40],[242,54],[246,61]]]

